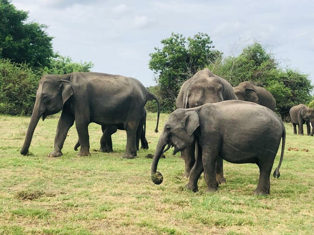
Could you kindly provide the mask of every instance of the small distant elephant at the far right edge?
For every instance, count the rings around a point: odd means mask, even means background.
[[[293,133],[296,134],[296,125],[298,125],[299,135],[303,135],[303,124],[306,123],[307,135],[314,134],[314,109],[307,107],[304,104],[295,105],[290,108],[290,117],[293,125]],[[312,125],[312,132],[311,126]]]

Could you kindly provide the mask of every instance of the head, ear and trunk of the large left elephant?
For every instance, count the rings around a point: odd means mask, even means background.
[[[34,130],[41,116],[42,120],[45,120],[47,115],[60,112],[64,103],[73,95],[73,85],[65,79],[69,79],[69,76],[44,75],[41,77],[30,124],[20,151],[21,154],[27,154]]]

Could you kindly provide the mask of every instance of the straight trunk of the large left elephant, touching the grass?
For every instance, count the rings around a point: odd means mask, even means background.
[[[36,101],[34,109],[33,109],[32,116],[30,118],[30,124],[28,125],[28,128],[27,128],[25,141],[24,141],[23,147],[22,147],[22,149],[20,151],[20,153],[22,155],[26,155],[28,153],[28,149],[30,147],[30,142],[32,141],[35,128],[37,126],[37,123],[38,123],[41,115],[42,114],[39,112],[39,104]]]

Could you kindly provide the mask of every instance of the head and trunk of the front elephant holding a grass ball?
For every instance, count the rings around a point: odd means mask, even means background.
[[[160,155],[167,144],[174,146],[173,154],[187,148],[194,142],[194,131],[199,126],[199,116],[195,109],[176,109],[165,123],[159,138],[151,166],[151,179],[154,184],[161,184],[163,176],[157,171]]]

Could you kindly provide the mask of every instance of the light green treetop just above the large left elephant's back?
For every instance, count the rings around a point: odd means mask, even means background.
[[[73,72],[90,72],[94,64],[89,62],[75,62],[70,56],[62,56],[56,53],[53,58],[51,58],[51,63],[49,67],[45,67],[43,74],[56,74],[64,75]]]

